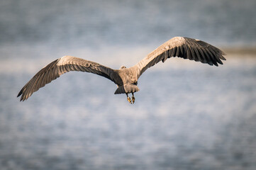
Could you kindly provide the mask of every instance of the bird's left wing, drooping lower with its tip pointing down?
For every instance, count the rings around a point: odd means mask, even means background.
[[[57,79],[61,74],[65,74],[70,71],[91,72],[115,82],[113,69],[104,67],[96,62],[72,56],[65,56],[43,67],[43,69],[35,74],[35,76],[30,79],[25,86],[23,86],[21,91],[18,93],[18,96],[21,96],[21,101],[25,101],[33,94],[33,92],[38,91],[38,89],[45,86],[45,84]]]

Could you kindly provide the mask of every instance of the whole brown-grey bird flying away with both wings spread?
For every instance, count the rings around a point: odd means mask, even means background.
[[[110,79],[118,86],[115,94],[126,94],[127,101],[135,103],[134,93],[139,91],[137,84],[140,75],[158,62],[165,62],[170,57],[181,57],[218,66],[218,64],[223,64],[221,60],[226,60],[223,55],[225,55],[224,52],[207,42],[193,38],[174,37],[157,47],[147,57],[130,68],[121,66],[120,69],[111,69],[96,62],[64,56],[43,67],[23,86],[18,96],[21,96],[21,101],[25,101],[35,91],[57,79],[60,75],[77,71],[91,72]],[[128,96],[130,93],[132,98]]]

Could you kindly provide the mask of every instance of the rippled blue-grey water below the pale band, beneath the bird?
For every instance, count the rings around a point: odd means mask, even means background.
[[[143,74],[134,105],[84,73],[19,103],[32,74],[1,72],[1,167],[255,169],[256,59],[167,65]]]

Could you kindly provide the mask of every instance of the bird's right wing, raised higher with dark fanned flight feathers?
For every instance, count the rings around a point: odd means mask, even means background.
[[[224,52],[207,42],[193,38],[174,37],[157,47],[156,50],[152,51],[138,64],[135,64],[133,69],[136,70],[138,79],[146,69],[160,61],[165,62],[170,57],[182,57],[218,66],[218,64],[223,64],[221,60],[226,60],[223,55],[225,55]]]

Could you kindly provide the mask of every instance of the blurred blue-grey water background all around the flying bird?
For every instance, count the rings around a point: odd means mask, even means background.
[[[0,169],[256,169],[255,0],[1,0]],[[73,55],[118,69],[174,36],[220,47],[220,67],[182,59],[116,85],[70,72],[16,98]]]

